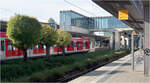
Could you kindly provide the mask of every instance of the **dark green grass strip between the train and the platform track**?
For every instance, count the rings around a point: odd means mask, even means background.
[[[126,53],[126,50],[103,50],[86,54],[73,54],[72,56],[50,56],[45,58],[28,59],[1,63],[1,80],[12,81],[55,81],[73,70],[84,70],[93,63],[110,60],[116,55]]]

